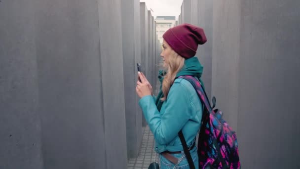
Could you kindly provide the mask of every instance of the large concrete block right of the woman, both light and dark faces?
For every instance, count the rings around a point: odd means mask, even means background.
[[[243,168],[300,167],[299,8],[214,0],[212,93],[237,130]]]

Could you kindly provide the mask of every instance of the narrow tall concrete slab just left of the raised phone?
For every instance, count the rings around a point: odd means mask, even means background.
[[[127,155],[130,158],[138,155],[142,139],[142,114],[135,90],[136,62],[141,62],[140,7],[138,0],[121,1],[121,5]]]

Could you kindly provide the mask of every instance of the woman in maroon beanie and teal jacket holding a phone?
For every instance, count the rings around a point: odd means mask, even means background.
[[[138,81],[136,86],[136,92],[141,97],[139,105],[154,135],[155,151],[160,154],[161,169],[173,169],[176,165],[177,169],[189,168],[178,136],[180,130],[190,148],[194,166],[198,169],[197,148],[194,143],[200,129],[202,104],[193,86],[187,80],[177,78],[191,75],[200,80],[203,66],[193,56],[198,44],[206,42],[206,37],[202,28],[182,24],[169,29],[163,39],[160,55],[166,71],[160,71],[158,76],[161,82],[160,92],[154,98],[151,85],[144,74],[139,72],[142,81]]]

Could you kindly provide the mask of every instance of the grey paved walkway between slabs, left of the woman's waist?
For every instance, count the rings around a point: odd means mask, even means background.
[[[153,146],[154,138],[150,128],[148,126],[143,127],[143,140],[139,155],[137,158],[129,159],[127,169],[148,169],[150,163],[154,162]],[[157,163],[159,163],[158,156]]]

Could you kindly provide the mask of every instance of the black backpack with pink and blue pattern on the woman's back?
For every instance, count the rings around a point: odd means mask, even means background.
[[[179,78],[186,79],[193,85],[205,107],[198,139],[199,169],[240,169],[235,132],[222,119],[222,112],[218,109],[213,110],[216,98],[213,97],[211,107],[203,87],[196,78],[192,76]],[[193,164],[189,166],[194,168]]]

